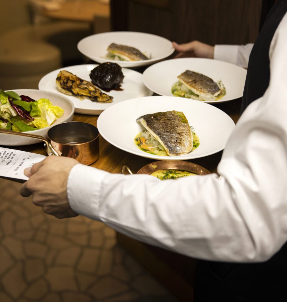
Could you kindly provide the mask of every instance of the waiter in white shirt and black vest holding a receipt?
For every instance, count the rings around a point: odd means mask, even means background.
[[[33,194],[58,218],[82,214],[146,243],[213,260],[203,262],[208,274],[199,270],[205,283],[198,283],[198,301],[285,301],[286,11],[287,1],[275,3],[250,53],[243,113],[218,165],[221,178],[162,182],[48,157],[26,170],[21,194]],[[238,58],[246,49],[237,50]]]

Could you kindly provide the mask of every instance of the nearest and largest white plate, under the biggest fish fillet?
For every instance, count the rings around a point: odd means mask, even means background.
[[[157,156],[140,150],[134,140],[144,128],[136,119],[143,114],[172,110],[182,111],[189,125],[195,128],[200,140],[198,148],[180,156]],[[150,96],[127,100],[108,108],[99,116],[97,127],[105,140],[129,153],[157,160],[185,160],[224,149],[235,124],[227,114],[209,104],[185,98]]]

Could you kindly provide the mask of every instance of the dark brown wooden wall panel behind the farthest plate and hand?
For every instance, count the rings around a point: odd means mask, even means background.
[[[264,0],[125,0],[125,13],[117,15],[120,30],[157,34],[184,43],[200,40],[209,44],[245,44],[259,33]],[[111,10],[117,6],[111,0]],[[119,3],[118,3],[119,5]],[[121,10],[123,11],[123,9]],[[114,11],[116,15],[116,11]]]

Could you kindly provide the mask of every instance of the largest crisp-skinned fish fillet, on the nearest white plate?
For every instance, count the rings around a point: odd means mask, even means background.
[[[192,133],[181,111],[145,114],[136,120],[155,137],[169,156],[185,155],[192,149]]]

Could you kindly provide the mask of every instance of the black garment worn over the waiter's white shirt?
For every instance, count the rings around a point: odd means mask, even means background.
[[[269,47],[286,12],[287,0],[278,0],[267,15],[253,46],[248,63],[241,113],[251,102],[262,97],[269,85]],[[195,301],[286,302],[287,244],[285,243],[271,259],[261,263],[198,261]]]

